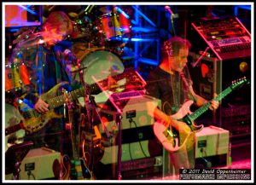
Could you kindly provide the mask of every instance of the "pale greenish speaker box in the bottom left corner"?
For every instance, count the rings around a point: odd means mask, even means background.
[[[31,149],[20,165],[20,180],[59,179],[61,153],[49,148]],[[6,176],[11,180],[12,174]]]

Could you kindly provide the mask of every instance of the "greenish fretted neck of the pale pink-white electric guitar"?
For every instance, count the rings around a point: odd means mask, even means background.
[[[229,95],[232,89],[229,87],[222,91],[219,95],[217,95],[215,98],[213,98],[213,101],[221,101],[226,95]],[[211,100],[211,101],[212,101]],[[189,119],[191,121],[194,121],[195,119],[198,119],[202,113],[205,113],[209,107],[211,107],[211,101],[208,101],[207,104],[197,109],[194,113],[189,115]]]

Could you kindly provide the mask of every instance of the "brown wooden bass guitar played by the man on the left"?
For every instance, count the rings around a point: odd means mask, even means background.
[[[64,84],[67,84],[67,82],[56,84],[55,87],[53,87],[47,93],[41,95],[41,99],[49,104],[48,113],[40,114],[35,109],[26,104],[24,101],[21,102],[20,113],[23,116],[24,120],[22,123],[19,124],[19,127],[26,130],[27,133],[33,133],[38,130],[41,130],[44,127],[44,125],[49,122],[49,119],[60,119],[62,115],[55,113],[54,108],[61,107],[66,103],[64,95],[57,95],[57,91]],[[95,92],[96,90],[99,90],[97,84],[90,84],[88,88],[90,89],[91,93]],[[84,87],[78,90],[73,90],[68,94],[70,95],[72,100],[78,99],[79,97],[84,96]]]

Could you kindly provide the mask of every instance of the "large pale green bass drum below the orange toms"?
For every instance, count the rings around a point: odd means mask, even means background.
[[[102,80],[108,80],[109,77],[123,73],[125,70],[125,66],[119,56],[106,49],[90,52],[80,62],[80,68],[84,69],[83,80],[89,85],[96,84]],[[75,78],[80,81],[78,72]],[[101,89],[105,90],[102,87]],[[96,103],[107,100],[108,93],[106,91],[95,95]],[[84,106],[84,98],[79,98],[79,103]]]

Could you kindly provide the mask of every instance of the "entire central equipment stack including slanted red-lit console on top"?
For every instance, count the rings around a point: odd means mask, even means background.
[[[122,179],[161,175],[163,149],[157,142],[152,128],[152,113],[155,107],[160,107],[160,100],[145,95],[146,82],[137,71],[128,69],[112,78],[118,84],[113,89],[106,90],[107,80],[98,83],[103,91],[102,96],[107,98],[95,98],[98,105],[103,104],[99,110],[102,118],[99,131],[104,141],[104,154],[97,177],[117,178],[119,131]],[[110,171],[112,172],[109,173]],[[104,176],[106,174],[111,176]]]

